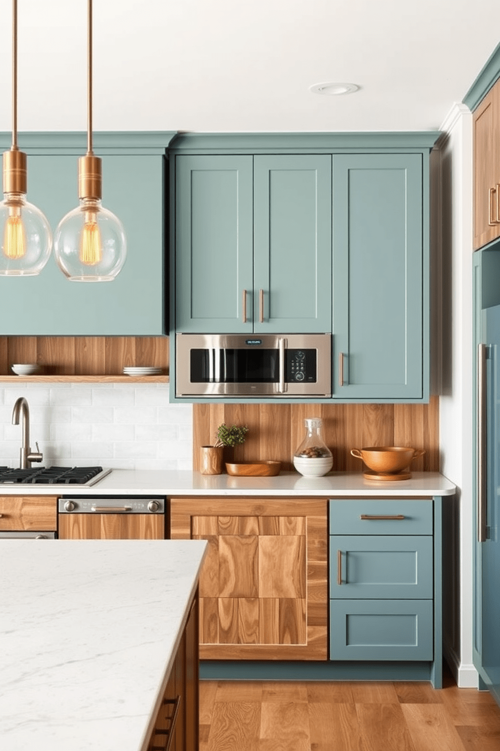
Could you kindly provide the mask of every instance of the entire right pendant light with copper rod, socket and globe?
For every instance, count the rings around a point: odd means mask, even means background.
[[[87,153],[78,160],[79,207],[59,222],[54,234],[55,261],[74,282],[112,282],[127,256],[127,240],[118,217],[104,209],[102,160],[92,149],[92,0],[88,0]]]

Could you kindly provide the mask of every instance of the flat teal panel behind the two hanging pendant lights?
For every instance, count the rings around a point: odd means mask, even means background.
[[[162,155],[103,156],[103,206],[121,219],[127,260],[113,282],[70,282],[52,255],[39,276],[0,277],[0,330],[19,335],[160,335],[163,315]],[[28,201],[52,231],[79,203],[77,156],[28,156]]]

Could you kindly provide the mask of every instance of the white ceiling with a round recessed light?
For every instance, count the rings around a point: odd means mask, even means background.
[[[86,12],[19,0],[19,131],[85,130]],[[437,130],[499,41],[498,0],[94,0],[94,129]],[[0,131],[10,61],[0,0]]]

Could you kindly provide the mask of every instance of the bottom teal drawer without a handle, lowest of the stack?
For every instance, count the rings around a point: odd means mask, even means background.
[[[330,659],[432,660],[432,600],[331,600]]]

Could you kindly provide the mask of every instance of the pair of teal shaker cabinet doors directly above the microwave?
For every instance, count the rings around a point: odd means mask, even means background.
[[[179,155],[175,327],[331,330],[331,155]]]

